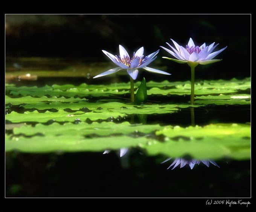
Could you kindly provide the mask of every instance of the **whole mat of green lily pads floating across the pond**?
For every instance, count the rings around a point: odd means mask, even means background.
[[[136,81],[135,88],[139,85]],[[131,147],[152,156],[250,159],[250,123],[182,127],[174,126],[171,118],[165,125],[146,121],[147,115],[173,116],[191,107],[207,110],[212,104],[249,108],[250,86],[250,78],[198,81],[195,104],[190,105],[189,81],[146,82],[148,102],[142,104],[128,101],[130,83],[41,87],[6,84],[5,150],[104,152]],[[180,100],[175,102],[177,95]],[[158,101],[159,96],[165,101]],[[130,119],[113,122],[125,117]],[[133,123],[131,117],[142,123]]]

